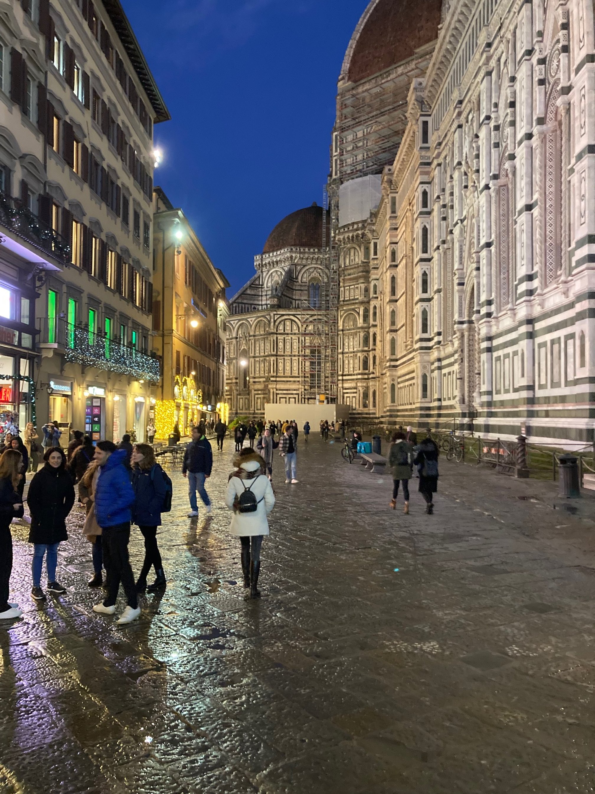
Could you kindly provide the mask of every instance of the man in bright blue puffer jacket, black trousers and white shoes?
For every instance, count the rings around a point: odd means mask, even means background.
[[[128,555],[134,491],[129,471],[125,468],[127,455],[125,449],[117,449],[112,441],[98,441],[94,454],[100,466],[94,495],[95,518],[102,528],[103,565],[107,571],[108,592],[105,601],[96,603],[93,609],[102,615],[113,615],[117,592],[122,583],[128,606],[117,621],[120,625],[130,623],[140,615]]]

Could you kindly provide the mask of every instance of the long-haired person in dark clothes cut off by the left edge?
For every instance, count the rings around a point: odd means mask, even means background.
[[[21,480],[21,453],[6,449],[0,456],[0,620],[20,618],[16,603],[9,603],[8,588],[13,570],[13,537],[10,522],[22,518],[25,509],[17,486]]]

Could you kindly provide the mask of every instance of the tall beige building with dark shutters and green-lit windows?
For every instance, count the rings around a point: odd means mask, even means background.
[[[21,0],[10,12],[0,15],[0,223],[17,213],[40,238],[21,244],[37,260],[11,252],[25,259],[13,280],[26,286],[7,327],[19,350],[25,326],[36,339],[13,373],[36,381],[38,424],[143,440],[160,376],[150,345],[153,125],[170,117],[119,0]],[[6,408],[22,421],[31,402]]]

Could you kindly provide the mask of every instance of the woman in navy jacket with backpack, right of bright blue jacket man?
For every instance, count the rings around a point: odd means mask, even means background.
[[[155,592],[166,585],[163,563],[157,545],[157,527],[161,526],[161,513],[168,492],[171,495],[171,480],[163,468],[155,462],[155,453],[148,444],[136,444],[132,449],[132,489],[134,504],[132,505],[132,523],[136,524],[144,538],[144,563],[136,580],[136,592]],[[166,479],[167,477],[167,479]],[[155,568],[155,581],[147,587],[147,576]]]

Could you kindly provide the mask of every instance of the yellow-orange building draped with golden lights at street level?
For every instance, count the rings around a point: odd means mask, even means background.
[[[163,361],[157,389],[157,437],[177,422],[182,435],[199,421],[223,418],[228,280],[215,268],[182,210],[160,187],[154,196],[153,349]]]

